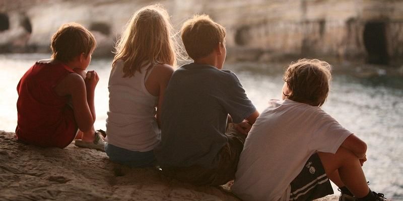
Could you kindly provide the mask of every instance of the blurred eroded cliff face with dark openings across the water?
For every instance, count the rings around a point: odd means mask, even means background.
[[[57,28],[77,22],[94,33],[96,55],[107,55],[138,9],[160,3],[177,30],[196,13],[227,29],[229,59],[334,57],[375,64],[403,63],[403,1],[13,1],[0,2],[1,52],[49,51]]]

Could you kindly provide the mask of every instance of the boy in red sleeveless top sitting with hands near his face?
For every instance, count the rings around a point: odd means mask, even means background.
[[[52,58],[36,62],[17,86],[19,140],[64,148],[77,135],[76,144],[103,150],[93,127],[99,77],[85,71],[95,47],[94,36],[76,23],[62,25],[52,36]]]

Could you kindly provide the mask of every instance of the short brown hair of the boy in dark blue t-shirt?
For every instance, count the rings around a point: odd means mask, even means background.
[[[225,35],[225,28],[208,15],[194,15],[181,29],[183,45],[193,60],[212,53],[220,42],[224,43]]]

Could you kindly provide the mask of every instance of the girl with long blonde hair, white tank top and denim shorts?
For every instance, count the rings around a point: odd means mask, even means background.
[[[109,77],[105,152],[131,167],[155,165],[161,106],[179,46],[160,5],[137,11],[116,43]]]

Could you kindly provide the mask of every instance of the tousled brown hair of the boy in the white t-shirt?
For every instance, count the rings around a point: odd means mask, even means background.
[[[291,63],[284,73],[287,82],[288,99],[321,107],[329,92],[331,65],[318,59],[300,59]]]

